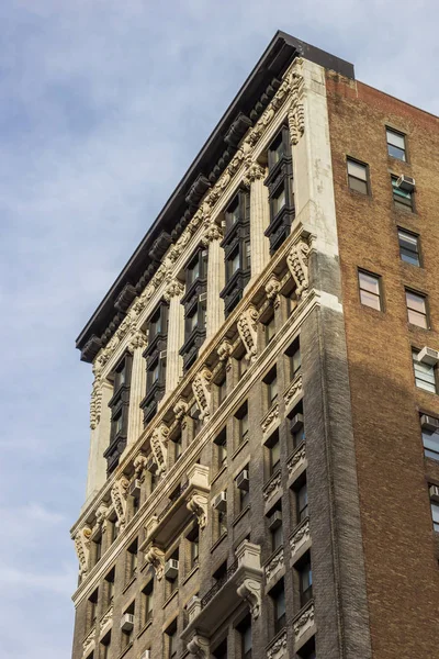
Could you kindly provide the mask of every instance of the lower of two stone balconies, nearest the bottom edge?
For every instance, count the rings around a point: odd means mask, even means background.
[[[243,600],[248,602],[251,617],[259,617],[262,579],[260,547],[244,540],[224,577],[202,599],[193,596],[187,604],[188,625],[181,638],[188,648],[195,643],[200,645],[200,639],[209,643],[206,639]]]

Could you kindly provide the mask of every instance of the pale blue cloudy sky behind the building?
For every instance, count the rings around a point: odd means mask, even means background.
[[[70,657],[75,338],[278,29],[439,114],[437,0],[0,2],[0,659]]]

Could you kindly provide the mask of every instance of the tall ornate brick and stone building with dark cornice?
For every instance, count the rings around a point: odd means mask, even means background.
[[[438,656],[438,129],[275,34],[77,342],[74,659]]]

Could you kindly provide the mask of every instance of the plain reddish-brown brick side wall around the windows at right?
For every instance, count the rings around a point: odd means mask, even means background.
[[[410,345],[439,349],[439,120],[360,82],[327,75],[353,431],[373,656],[439,656],[439,569]],[[387,156],[385,126],[406,133],[407,164]],[[346,157],[370,166],[371,196],[351,192]],[[393,205],[391,172],[416,179],[416,212]],[[420,234],[423,268],[399,258],[397,226]],[[357,268],[382,276],[384,311],[359,302]],[[431,330],[407,323],[404,287],[428,293]]]

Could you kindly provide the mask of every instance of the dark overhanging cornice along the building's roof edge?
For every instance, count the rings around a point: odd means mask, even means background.
[[[302,56],[353,79],[353,66],[284,32],[277,32],[207,142],[166,202],[133,256],[79,334],[76,346],[83,361],[92,361],[117,328],[131,300],[139,294],[160,259],[196,211],[205,191],[233,158],[241,137],[262,114],[282,75]]]

